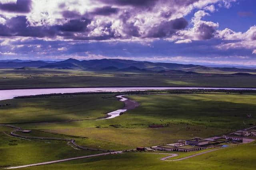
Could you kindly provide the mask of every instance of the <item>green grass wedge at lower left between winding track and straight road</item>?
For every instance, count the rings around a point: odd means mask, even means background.
[[[0,168],[99,153],[75,150],[63,141],[28,141],[10,137],[6,135],[10,130],[0,127]]]

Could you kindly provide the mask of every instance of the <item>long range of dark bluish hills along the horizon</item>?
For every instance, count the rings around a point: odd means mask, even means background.
[[[50,69],[79,69],[88,71],[122,71],[122,72],[159,72],[168,74],[177,70],[195,74],[197,72],[256,72],[256,69],[236,67],[210,67],[194,64],[153,63],[149,61],[133,61],[122,59],[97,59],[79,61],[0,61],[0,67],[37,67]],[[176,70],[176,71],[175,71]]]

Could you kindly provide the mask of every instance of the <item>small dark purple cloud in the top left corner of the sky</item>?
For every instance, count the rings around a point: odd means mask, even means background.
[[[17,0],[16,3],[0,3],[0,10],[7,12],[28,13],[31,10],[31,0]]]

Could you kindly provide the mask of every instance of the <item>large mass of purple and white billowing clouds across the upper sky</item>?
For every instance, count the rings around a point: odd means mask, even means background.
[[[3,30],[0,35],[88,41],[143,42],[180,35],[177,39],[210,39],[216,29],[216,25],[211,22],[196,25],[197,38],[178,33],[188,26],[184,17],[194,9],[205,8],[213,12],[214,4],[232,1],[58,0],[56,3],[48,0],[18,0],[8,3],[13,11],[16,10],[16,14],[4,13],[8,16],[0,16],[0,29]],[[18,9],[24,15],[20,15]],[[194,20],[199,21],[209,15],[199,11]]]

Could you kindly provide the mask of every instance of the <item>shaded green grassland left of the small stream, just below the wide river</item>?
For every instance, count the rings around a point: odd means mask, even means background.
[[[113,98],[104,99],[111,96]],[[124,106],[111,94],[2,100],[0,104],[9,104],[0,107],[2,124],[94,120]]]

